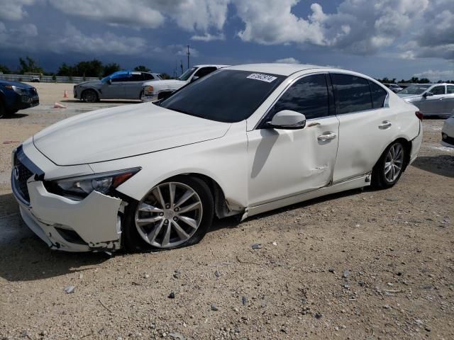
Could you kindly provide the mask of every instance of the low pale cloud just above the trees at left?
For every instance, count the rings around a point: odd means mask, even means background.
[[[110,32],[100,35],[85,35],[74,26],[67,24],[64,36],[52,40],[49,47],[54,52],[135,55],[143,52],[147,45],[142,38],[118,36]]]

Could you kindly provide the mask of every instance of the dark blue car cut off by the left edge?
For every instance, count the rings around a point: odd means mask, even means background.
[[[28,84],[0,80],[0,118],[40,103],[38,91]]]

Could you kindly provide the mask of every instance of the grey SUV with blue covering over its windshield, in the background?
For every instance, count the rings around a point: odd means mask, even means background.
[[[118,71],[101,80],[85,81],[74,85],[74,98],[87,103],[101,99],[135,99],[142,96],[143,83],[160,81],[160,74],[135,71]]]

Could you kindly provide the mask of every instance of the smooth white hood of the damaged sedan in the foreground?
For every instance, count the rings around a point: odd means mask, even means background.
[[[33,143],[57,165],[89,164],[213,140],[230,125],[142,103],[62,120],[38,132]]]

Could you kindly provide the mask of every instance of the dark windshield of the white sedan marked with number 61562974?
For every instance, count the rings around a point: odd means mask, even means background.
[[[221,69],[175,92],[161,106],[209,120],[236,123],[252,115],[285,78]]]

